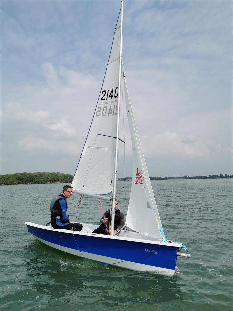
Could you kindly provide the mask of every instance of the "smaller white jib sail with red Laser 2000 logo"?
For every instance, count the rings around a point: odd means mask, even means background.
[[[123,67],[123,64],[122,64]],[[124,69],[123,69],[124,70]],[[153,189],[150,183],[135,119],[130,104],[124,74],[126,111],[130,127],[133,148],[133,175],[129,207],[126,216],[127,227],[137,232],[147,234],[159,240],[166,240]]]

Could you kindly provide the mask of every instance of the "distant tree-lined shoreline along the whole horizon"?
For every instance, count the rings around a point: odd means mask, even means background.
[[[209,176],[182,176],[182,177],[153,177],[150,180],[171,180],[171,179],[221,179],[233,178],[233,175],[220,174]],[[72,182],[73,175],[63,174],[60,172],[36,172],[36,173],[15,173],[0,175],[0,185],[33,185],[33,184],[46,184],[46,183],[67,183]],[[132,177],[117,178],[117,181],[132,181]]]

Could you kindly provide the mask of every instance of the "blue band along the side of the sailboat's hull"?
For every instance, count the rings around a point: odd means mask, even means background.
[[[152,267],[175,270],[179,247],[139,243],[122,239],[103,239],[98,235],[81,235],[28,226],[28,232],[47,242],[81,252],[118,258]]]

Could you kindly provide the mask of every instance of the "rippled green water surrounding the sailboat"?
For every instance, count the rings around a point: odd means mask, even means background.
[[[117,183],[125,215],[130,185]],[[178,257],[174,276],[92,265],[34,239],[24,222],[46,224],[62,186],[0,187],[1,311],[233,309],[232,179],[152,181],[167,239],[191,254]],[[75,194],[68,200],[72,220],[78,200]],[[100,217],[98,201],[84,198],[79,221],[98,224]]]

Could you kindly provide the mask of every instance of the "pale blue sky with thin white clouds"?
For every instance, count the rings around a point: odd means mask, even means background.
[[[120,6],[1,0],[1,174],[75,173]],[[231,0],[124,1],[123,62],[150,176],[233,174],[232,40]],[[117,177],[132,176],[126,122]]]

